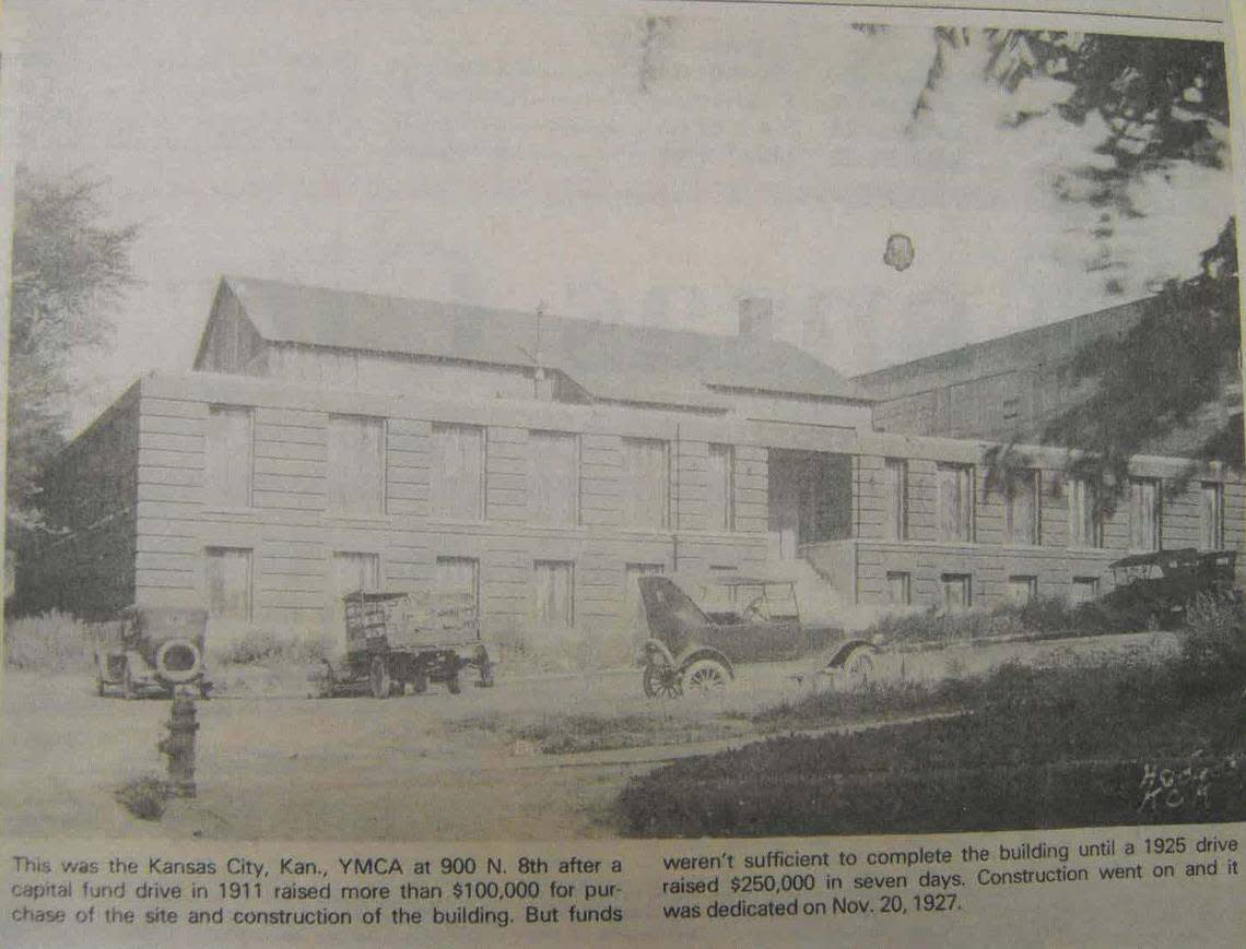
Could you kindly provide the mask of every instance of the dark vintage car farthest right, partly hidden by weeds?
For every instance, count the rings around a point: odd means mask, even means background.
[[[1113,589],[1099,599],[1123,626],[1172,629],[1196,597],[1236,598],[1236,550],[1200,553],[1192,547],[1121,557],[1108,564]]]

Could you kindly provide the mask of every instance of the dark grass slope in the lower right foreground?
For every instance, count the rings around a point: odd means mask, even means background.
[[[1244,629],[1215,618],[1168,666],[1006,666],[946,686],[967,710],[953,719],[678,761],[634,778],[619,819],[669,837],[1242,821]],[[841,700],[770,715],[795,725]]]

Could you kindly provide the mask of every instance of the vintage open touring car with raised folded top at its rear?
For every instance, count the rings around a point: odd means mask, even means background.
[[[740,663],[826,658],[825,670],[854,680],[872,675],[877,649],[865,640],[844,640],[832,625],[800,618],[790,580],[755,577],[713,578],[697,584],[706,593],[703,610],[672,577],[640,577],[649,639],[642,648],[642,686],[649,697],[713,694],[735,679]],[[710,600],[716,600],[710,605]]]

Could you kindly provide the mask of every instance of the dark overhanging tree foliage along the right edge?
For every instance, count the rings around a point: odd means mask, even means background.
[[[948,56],[977,42],[988,51],[986,81],[1015,92],[1024,82],[1045,77],[1068,88],[1049,110],[1018,111],[1008,125],[1024,125],[1052,110],[1078,125],[1091,115],[1103,121],[1104,139],[1094,149],[1098,159],[1070,164],[1055,182],[1063,199],[1101,212],[1093,232],[1099,242],[1113,239],[1113,215],[1145,215],[1131,199],[1131,186],[1143,176],[1168,176],[1182,162],[1224,167],[1229,86],[1222,44],[941,27],[934,31],[934,59],[913,121],[937,106]],[[1195,276],[1169,280],[1123,339],[1099,340],[1078,352],[1074,375],[1093,380],[1094,392],[1043,432],[1044,442],[1074,450],[1069,473],[1100,488],[1101,513],[1120,499],[1130,457],[1186,426],[1202,406],[1222,397],[1225,381],[1237,372],[1241,329],[1232,218],[1200,264]],[[1242,418],[1231,416],[1206,440],[1199,457],[1241,468],[1242,441]],[[1014,453],[1012,446],[1001,446],[986,461],[988,483],[1004,492]]]

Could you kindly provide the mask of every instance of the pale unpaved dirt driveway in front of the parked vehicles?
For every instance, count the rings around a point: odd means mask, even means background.
[[[1039,665],[1163,654],[1172,643],[1115,636],[998,644],[903,655],[905,675],[938,678],[1019,659]],[[882,659],[887,669],[901,661]],[[0,732],[6,837],[267,839],[566,839],[616,834],[611,807],[628,777],[678,753],[533,756],[505,722],[578,712],[658,714],[664,731],[714,720],[748,741],[748,715],[817,686],[817,664],[756,665],[711,702],[647,700],[639,671],[502,680],[495,689],[376,701],[223,696],[198,704],[198,787],[164,818],[132,818],[113,800],[128,778],[161,772],[166,700],[98,699],[87,676],[9,673]],[[891,670],[895,673],[896,670]],[[800,680],[794,676],[804,674]],[[825,687],[825,680],[822,680]],[[657,711],[655,711],[657,709]],[[728,719],[724,719],[724,712]],[[689,748],[685,748],[685,751]]]

